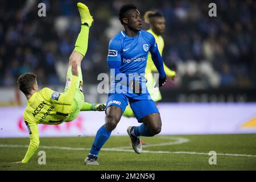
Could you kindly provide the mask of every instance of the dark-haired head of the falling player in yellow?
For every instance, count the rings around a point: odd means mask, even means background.
[[[30,94],[36,83],[36,75],[34,73],[25,73],[19,76],[17,83],[19,85],[19,90],[27,96]]]

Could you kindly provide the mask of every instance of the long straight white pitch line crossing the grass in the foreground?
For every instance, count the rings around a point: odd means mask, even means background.
[[[28,145],[20,145],[20,144],[0,144],[0,147],[10,147],[10,148],[27,148]],[[57,146],[40,146],[40,148],[46,149],[57,149],[57,150],[90,150],[90,148],[73,148],[73,147],[57,147]],[[102,151],[122,151],[122,152],[134,152],[133,150],[126,150],[121,148],[102,148]],[[204,152],[189,152],[189,151],[148,151],[143,150],[143,153],[153,153],[153,154],[191,154],[191,155],[209,155],[209,153]],[[256,155],[247,155],[247,154],[224,154],[217,153],[217,155],[228,155],[228,156],[242,156],[242,157],[253,157],[256,158]]]

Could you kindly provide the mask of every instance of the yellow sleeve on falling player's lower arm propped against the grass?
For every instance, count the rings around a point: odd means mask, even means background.
[[[39,131],[38,124],[35,122],[24,121],[28,127],[30,133],[30,145],[28,146],[27,153],[24,156],[22,163],[27,163],[31,157],[35,154],[39,147]]]

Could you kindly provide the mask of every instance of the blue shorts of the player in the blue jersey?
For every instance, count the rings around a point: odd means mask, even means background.
[[[125,111],[126,106],[130,103],[131,109],[138,122],[148,114],[159,113],[155,102],[152,100],[138,100],[125,96],[122,93],[110,93],[106,102],[106,109],[110,106],[117,106],[122,109],[122,114]]]

